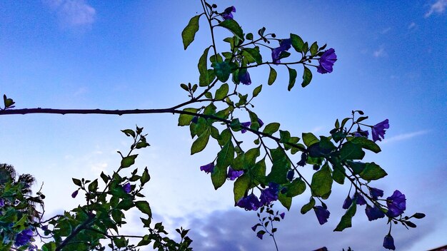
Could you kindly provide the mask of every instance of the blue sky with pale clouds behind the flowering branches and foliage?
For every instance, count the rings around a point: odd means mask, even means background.
[[[251,72],[253,84],[241,90],[250,93],[263,84],[254,101],[258,116],[266,123],[280,122],[295,135],[327,135],[336,118],[356,109],[365,111],[371,124],[388,118],[383,151],[367,156],[388,173],[376,186],[386,195],[401,190],[409,213],[427,214],[416,229],[395,227],[396,247],[446,245],[447,1],[216,4],[221,9],[236,6],[235,20],[245,32],[256,34],[266,26],[278,38],[292,32],[335,48],[333,73],[314,71],[307,88],[297,85],[288,92],[288,75],[281,68],[276,83],[267,86],[268,71],[261,68]],[[210,43],[204,22],[187,51],[181,42],[184,26],[201,11],[199,1],[6,0],[0,9],[0,94],[14,98],[17,108],[174,106],[188,98],[179,84],[198,81],[196,64]],[[219,46],[226,49],[224,43]],[[136,165],[147,165],[151,172],[146,195],[160,220],[191,227],[197,250],[273,248],[273,242],[251,232],[256,214],[233,208],[232,186],[214,191],[209,176],[199,171],[213,158],[216,145],[191,157],[189,130],[176,126],[176,116],[0,119],[0,161],[35,175],[36,189],[44,183],[48,216],[82,203],[70,198],[75,189],[71,177],[114,170],[116,150],[129,145],[119,130],[137,124],[149,133],[151,148],[141,151]],[[323,226],[313,213],[299,213],[307,196],[294,200],[279,225],[280,250],[381,250],[386,220],[368,222],[363,209],[351,229],[332,232],[347,193],[347,187],[334,188],[328,201],[331,217]]]

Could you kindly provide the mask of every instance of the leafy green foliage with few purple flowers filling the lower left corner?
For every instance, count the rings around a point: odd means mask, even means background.
[[[79,191],[82,191],[85,194],[86,204],[79,205],[62,215],[56,215],[48,220],[41,220],[39,217],[36,220],[36,217],[31,216],[40,214],[34,210],[30,202],[41,203],[43,195],[39,198],[25,198],[24,195],[31,192],[29,184],[24,185],[19,178],[16,183],[8,181],[3,185],[2,180],[1,201],[4,201],[4,206],[1,208],[0,233],[4,238],[0,243],[1,250],[4,250],[3,247],[12,247],[13,244],[20,247],[19,250],[31,247],[30,243],[34,240],[31,239],[31,235],[39,235],[41,241],[45,242],[41,247],[43,251],[106,250],[103,240],[108,240],[107,246],[111,250],[137,250],[150,244],[156,250],[191,250],[189,245],[192,240],[187,236],[189,230],[177,229],[176,232],[179,233],[181,240],[176,242],[167,236],[168,232],[161,222],[152,224],[151,207],[142,199],[144,195],[141,193],[151,178],[149,170],[144,168],[143,172],[138,174],[139,169],[136,168],[130,175],[123,175],[124,170],[135,163],[138,154],[132,154],[134,150],[146,148],[149,143],[146,142],[146,135],[142,134],[143,128],[137,126],[136,130],[122,131],[133,139],[133,143],[126,155],[118,152],[121,155],[119,168],[112,175],[101,173],[100,179],[73,178],[73,183],[78,188],[71,197],[75,198]],[[104,183],[102,188],[101,182]],[[144,215],[140,219],[147,233],[142,236],[120,235],[119,227],[127,223],[125,212],[133,208]],[[26,212],[22,212],[25,210]],[[18,245],[17,235],[24,229],[32,230],[30,238],[26,243],[19,243],[25,245]]]

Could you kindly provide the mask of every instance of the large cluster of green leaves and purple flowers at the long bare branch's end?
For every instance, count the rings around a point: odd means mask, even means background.
[[[326,45],[319,47],[315,42],[308,46],[307,42],[303,42],[295,34],[291,34],[286,39],[276,39],[275,34],[266,34],[265,28],[258,31],[258,38],[254,38],[251,33],[243,34],[241,26],[233,19],[232,15],[230,18],[224,16],[228,14],[228,10],[236,10],[233,6],[219,13],[215,10],[215,5],[211,6],[206,1],[202,1],[202,3],[204,12],[194,16],[182,33],[184,48],[186,49],[194,41],[194,36],[199,31],[201,16],[205,16],[209,23],[212,44],[205,49],[199,59],[199,85],[189,83],[188,86],[182,84],[181,87],[189,91],[191,103],[208,102],[209,104],[200,108],[185,108],[184,113],[179,116],[179,126],[189,126],[190,128],[191,137],[194,139],[191,145],[191,154],[204,150],[210,138],[214,138],[220,146],[221,150],[217,153],[216,158],[207,165],[209,168],[206,168],[206,172],[211,173],[214,188],[218,189],[224,185],[233,170],[240,171],[241,175],[236,178],[233,185],[234,201],[235,205],[246,210],[258,210],[258,208],[268,206],[274,200],[278,200],[289,210],[292,198],[303,194],[306,188],[309,188],[311,197],[309,203],[301,208],[301,213],[305,214],[313,209],[318,222],[323,224],[327,222],[330,215],[323,200],[328,199],[331,195],[333,183],[343,185],[348,182],[355,192],[352,199],[351,195],[348,195],[349,203],[345,203],[348,205],[343,206],[343,208],[346,207],[346,213],[341,217],[334,231],[342,231],[346,227],[351,227],[351,219],[356,213],[356,205],[367,204],[366,201],[363,203],[357,199],[360,197],[369,201],[366,206],[368,219],[376,220],[387,216],[388,223],[401,222],[405,227],[416,227],[413,222],[408,221],[408,216],[402,215],[406,210],[406,199],[400,191],[396,190],[395,194],[386,200],[379,199],[383,196],[382,190],[379,190],[382,192],[380,196],[371,195],[371,190],[378,190],[371,187],[371,181],[381,179],[387,173],[376,163],[361,162],[366,150],[373,153],[381,151],[376,141],[381,140],[385,130],[389,128],[388,120],[375,126],[366,125],[363,121],[368,117],[363,116],[363,111],[353,111],[352,116],[344,118],[341,123],[337,120],[335,128],[329,135],[316,137],[313,133],[302,133],[299,138],[291,135],[288,130],[280,130],[279,123],[269,123],[261,130],[263,121],[251,111],[250,106],[254,107],[251,102],[261,93],[262,85],[253,89],[251,98],[247,93],[238,91],[240,83],[251,83],[251,81],[246,81],[247,70],[262,65],[269,66],[269,85],[276,80],[276,71],[272,66],[278,64],[286,66],[289,73],[288,91],[290,91],[297,76],[296,70],[290,66],[301,64],[304,68],[301,86],[308,86],[312,78],[308,66],[312,66],[310,64],[312,60],[318,60],[319,66],[315,67],[319,73],[332,71],[333,62],[336,59],[329,62],[330,66],[326,67],[328,65],[328,61],[325,62],[328,60],[325,58],[327,51],[323,51]],[[214,29],[216,28],[231,31],[232,36],[223,39],[228,43],[229,51],[218,53],[214,42]],[[268,46],[271,41],[278,41],[280,46],[276,48]],[[271,49],[272,61],[263,61],[261,46]],[[301,58],[281,63],[280,59],[291,56],[291,53],[287,51],[290,47],[300,53]],[[208,55],[210,48],[213,48],[214,51],[211,57]],[[331,51],[331,55],[328,57],[334,59],[333,49],[328,51]],[[211,63],[211,69],[207,66],[208,61]],[[227,83],[230,76],[233,88]],[[219,86],[218,83],[221,85]],[[195,97],[197,86],[203,89],[199,89],[202,92]],[[219,86],[219,88],[215,86]],[[216,91],[212,92],[213,89]],[[233,91],[230,92],[230,89]],[[206,98],[201,99],[202,96]],[[233,97],[236,97],[236,101],[233,100]],[[226,106],[226,108],[218,110],[217,106]],[[241,123],[235,115],[236,111],[246,111],[249,121]],[[358,118],[356,118],[356,114],[359,115]],[[221,125],[224,128],[219,130]],[[355,127],[357,130],[353,130]],[[368,131],[361,130],[361,127],[371,128],[373,140],[368,138]],[[256,135],[253,148],[243,150],[243,140],[238,139],[237,132],[239,131],[242,133],[250,131]],[[267,140],[273,140],[274,146],[268,145]],[[298,158],[298,163],[294,164],[296,161],[293,161],[293,155],[298,152],[301,153],[301,158]],[[316,170],[310,181],[298,169],[298,166],[305,165],[311,165],[313,170]],[[298,177],[294,178],[295,175]],[[274,190],[272,190],[271,184],[274,184]],[[266,188],[267,186],[269,188]],[[261,192],[261,200],[257,199],[256,190]],[[266,199],[267,197],[269,199]],[[320,205],[317,205],[316,201]],[[423,214],[417,213],[416,215],[423,217]],[[389,232],[388,235],[390,235]],[[384,246],[393,249],[391,248],[393,245]]]

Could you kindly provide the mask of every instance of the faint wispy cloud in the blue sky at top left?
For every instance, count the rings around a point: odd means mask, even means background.
[[[95,21],[96,10],[84,0],[43,0],[43,2],[56,11],[64,25],[88,26]]]

